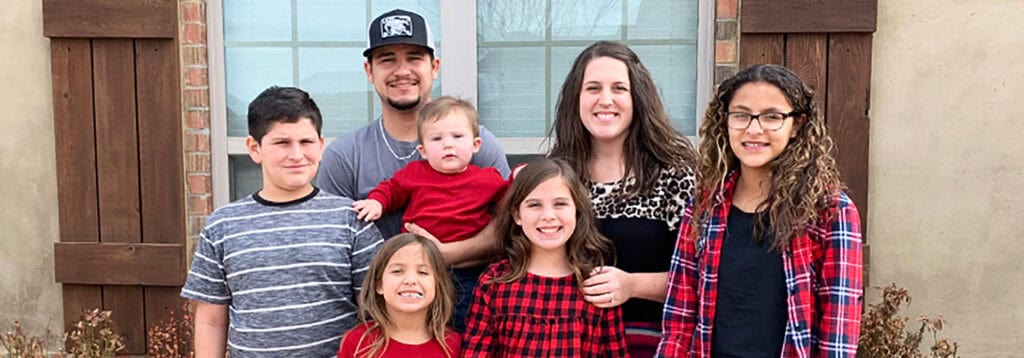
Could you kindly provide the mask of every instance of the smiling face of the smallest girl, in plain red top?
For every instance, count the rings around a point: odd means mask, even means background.
[[[434,269],[418,243],[407,244],[388,260],[377,294],[384,298],[388,316],[426,316],[436,295]]]

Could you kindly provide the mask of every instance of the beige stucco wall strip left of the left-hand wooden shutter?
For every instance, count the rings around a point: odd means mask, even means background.
[[[63,330],[53,282],[58,240],[49,40],[42,1],[0,5],[0,329]]]

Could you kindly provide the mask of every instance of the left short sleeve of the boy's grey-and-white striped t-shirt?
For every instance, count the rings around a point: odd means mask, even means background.
[[[227,287],[224,273],[223,253],[214,244],[216,239],[209,227],[200,233],[188,277],[181,287],[181,297],[215,305],[231,303],[231,292]]]

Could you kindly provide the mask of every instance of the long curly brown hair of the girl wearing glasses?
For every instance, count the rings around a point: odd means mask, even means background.
[[[768,196],[757,208],[758,232],[767,215],[774,235],[772,248],[790,247],[795,235],[807,225],[820,220],[829,199],[844,188],[831,151],[834,143],[828,128],[814,104],[814,92],[788,69],[777,64],[756,64],[719,85],[715,98],[708,106],[700,125],[700,156],[697,162],[697,188],[691,218],[692,235],[700,232],[701,218],[716,199],[732,171],[738,170],[739,160],[729,145],[729,128],[725,113],[736,91],[749,83],[768,83],[781,90],[794,111],[799,126],[795,136],[777,158],[771,161]],[[760,230],[760,231],[759,231]]]

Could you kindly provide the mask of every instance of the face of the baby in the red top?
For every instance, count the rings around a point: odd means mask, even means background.
[[[456,174],[466,170],[473,153],[480,150],[480,143],[465,111],[457,108],[437,121],[423,122],[417,149],[427,159],[430,168],[439,173]]]

